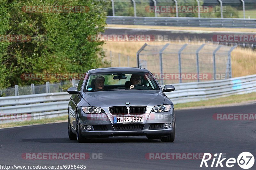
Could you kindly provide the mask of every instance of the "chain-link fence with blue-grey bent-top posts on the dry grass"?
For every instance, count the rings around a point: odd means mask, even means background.
[[[137,53],[138,67],[150,70],[161,85],[231,78],[231,52],[236,46],[145,44]]]

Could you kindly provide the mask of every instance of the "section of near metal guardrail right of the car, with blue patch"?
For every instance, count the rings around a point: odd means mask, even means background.
[[[256,92],[256,75],[219,81],[191,82],[173,85],[175,91],[167,92],[166,96],[174,103],[186,103],[233,94]]]

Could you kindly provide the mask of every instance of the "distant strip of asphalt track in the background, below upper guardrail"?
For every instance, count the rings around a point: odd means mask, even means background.
[[[108,27],[107,27],[108,28]],[[154,35],[155,41],[162,41],[161,37],[166,36],[168,40],[191,40],[191,41],[215,41],[217,35],[255,35],[252,32],[225,32],[225,31],[195,31],[195,30],[163,30],[163,29],[139,29],[139,28],[108,28],[103,33],[104,35]],[[158,38],[158,36],[161,36]],[[215,38],[214,38],[215,37]],[[252,48],[252,44],[256,46],[255,41],[251,42],[228,42],[228,45],[237,43],[240,46],[243,44]],[[226,44],[226,42],[220,42]],[[255,47],[253,47],[255,48]]]

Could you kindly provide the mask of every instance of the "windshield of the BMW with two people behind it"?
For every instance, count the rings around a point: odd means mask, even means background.
[[[160,90],[160,88],[149,72],[91,73],[84,86],[84,92],[112,90]]]

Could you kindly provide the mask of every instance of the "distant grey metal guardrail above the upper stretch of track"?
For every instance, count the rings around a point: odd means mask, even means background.
[[[107,24],[256,28],[256,19],[108,16]]]

